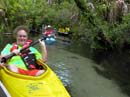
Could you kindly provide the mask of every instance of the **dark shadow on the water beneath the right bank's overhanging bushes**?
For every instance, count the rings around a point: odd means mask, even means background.
[[[93,66],[95,71],[116,82],[121,91],[130,96],[130,52],[128,50],[92,51],[85,43],[76,43],[76,45],[74,43],[67,50],[94,60],[97,63]]]

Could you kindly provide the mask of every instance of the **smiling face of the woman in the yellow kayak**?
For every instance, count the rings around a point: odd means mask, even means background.
[[[17,44],[24,45],[28,40],[28,35],[25,30],[19,30],[17,33]]]

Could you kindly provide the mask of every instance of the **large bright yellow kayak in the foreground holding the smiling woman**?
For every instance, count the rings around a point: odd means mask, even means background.
[[[41,60],[45,72],[40,76],[27,76],[0,69],[0,80],[11,97],[71,97],[56,74]]]

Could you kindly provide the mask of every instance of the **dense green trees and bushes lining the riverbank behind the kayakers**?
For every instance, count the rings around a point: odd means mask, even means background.
[[[72,39],[84,40],[92,49],[115,49],[129,45],[130,14],[118,13],[114,0],[3,0],[5,16],[0,32],[17,25],[70,26]],[[129,3],[129,0],[125,2]],[[1,3],[2,5],[2,3]],[[116,14],[117,15],[116,15]],[[116,18],[115,18],[116,17]],[[5,22],[5,19],[7,22]]]

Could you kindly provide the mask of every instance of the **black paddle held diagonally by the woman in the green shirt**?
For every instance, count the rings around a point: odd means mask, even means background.
[[[46,38],[43,37],[43,38],[41,38],[41,41],[42,41],[42,40],[45,40],[45,39],[46,39]],[[24,52],[27,48],[36,45],[37,43],[39,43],[39,40],[34,41],[34,42],[32,42],[29,46],[27,46],[27,47],[21,49],[21,50],[20,50],[20,53]],[[6,55],[6,56],[4,56],[4,57],[1,58],[0,62],[1,62],[1,63],[5,63],[8,59],[12,58],[12,57],[15,56],[15,55],[16,55],[15,53],[11,53],[11,54],[9,54],[9,55]]]

